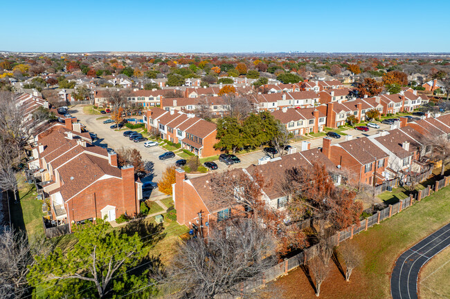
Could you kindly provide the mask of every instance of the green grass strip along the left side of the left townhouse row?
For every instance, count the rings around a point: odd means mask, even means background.
[[[22,175],[18,177],[20,202],[18,204],[12,203],[13,200],[10,202],[12,225],[19,229],[26,229],[28,235],[43,234],[42,201],[36,200],[35,185],[22,182],[24,180]]]

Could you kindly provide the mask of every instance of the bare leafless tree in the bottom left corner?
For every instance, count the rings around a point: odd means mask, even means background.
[[[35,255],[45,255],[52,249],[44,238],[28,241],[23,231],[10,229],[0,234],[0,297],[22,298],[30,288],[26,276],[35,264]]]

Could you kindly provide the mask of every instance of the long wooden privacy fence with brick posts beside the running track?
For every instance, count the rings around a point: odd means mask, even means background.
[[[428,176],[427,176],[428,177]],[[400,200],[396,204],[390,204],[386,209],[381,211],[377,211],[375,214],[370,217],[363,219],[359,222],[359,225],[353,224],[352,226],[344,229],[343,231],[339,231],[330,239],[332,239],[333,244],[337,245],[340,242],[343,242],[348,239],[352,239],[354,235],[360,233],[361,231],[367,231],[367,229],[375,224],[379,224],[379,222],[392,217],[393,215],[400,213],[404,209],[412,206],[415,202],[420,202],[424,197],[427,197],[433,193],[433,191],[438,191],[445,186],[450,184],[450,176],[444,177],[442,180],[436,181],[434,185],[426,186],[425,189],[417,191],[417,194],[410,195],[404,200]],[[313,245],[312,247],[308,247],[304,249],[302,252],[294,255],[291,258],[285,259],[283,262],[276,264],[275,266],[267,269],[261,276],[253,278],[252,280],[248,280],[242,283],[242,290],[255,289],[261,286],[264,286],[266,282],[271,280],[275,280],[279,276],[287,275],[289,271],[299,267],[309,260],[314,258],[318,254],[318,244]],[[217,296],[217,298],[230,298],[226,296]]]

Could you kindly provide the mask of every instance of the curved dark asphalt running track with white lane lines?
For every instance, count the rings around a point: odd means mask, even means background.
[[[450,223],[400,255],[390,277],[390,294],[393,299],[417,299],[420,268],[449,245]]]

